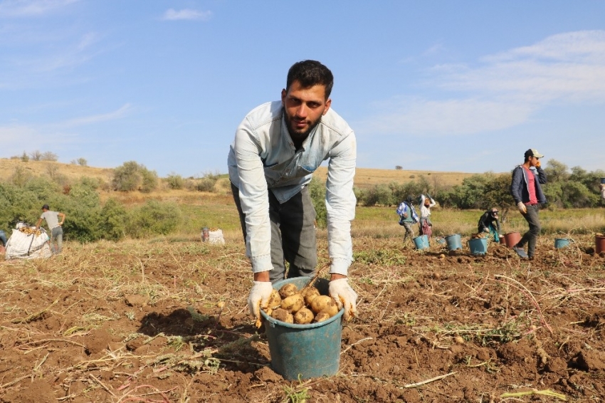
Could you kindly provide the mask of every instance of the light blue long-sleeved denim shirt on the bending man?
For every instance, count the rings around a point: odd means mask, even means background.
[[[330,159],[325,199],[330,273],[347,276],[353,260],[356,158],[354,132],[331,108],[298,151],[285,124],[281,101],[260,105],[244,117],[227,164],[246,216],[246,256],[251,259],[253,273],[273,269],[268,191],[280,203],[288,201],[309,184],[315,169]]]

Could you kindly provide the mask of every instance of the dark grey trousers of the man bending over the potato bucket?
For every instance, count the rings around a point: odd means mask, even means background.
[[[231,184],[233,200],[239,213],[243,239],[246,242],[246,216],[241,211],[239,189]],[[313,276],[317,266],[317,240],[315,238],[315,208],[305,187],[298,194],[280,204],[273,192],[269,194],[269,220],[271,223],[271,283],[285,277],[285,262],[290,265],[288,278]]]

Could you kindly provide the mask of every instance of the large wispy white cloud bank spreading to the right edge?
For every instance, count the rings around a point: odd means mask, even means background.
[[[469,135],[521,125],[553,103],[605,103],[605,31],[560,33],[475,64],[433,67],[425,84],[451,91],[446,100],[388,100],[358,129]]]

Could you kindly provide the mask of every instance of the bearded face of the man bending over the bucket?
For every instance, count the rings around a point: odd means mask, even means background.
[[[285,122],[293,140],[305,140],[330,109],[332,100],[325,99],[325,86],[313,85],[302,88],[298,81],[282,90],[281,102],[285,110]]]

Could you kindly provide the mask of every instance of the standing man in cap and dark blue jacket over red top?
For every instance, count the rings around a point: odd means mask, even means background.
[[[545,204],[546,197],[542,192],[540,184],[547,182],[546,172],[540,167],[540,158],[544,155],[530,148],[525,152],[525,162],[512,170],[512,182],[510,183],[510,194],[515,199],[517,209],[530,225],[527,231],[512,249],[522,258],[533,260],[536,241],[540,235],[540,218],[538,211],[540,204]],[[525,253],[527,244],[527,253]]]

